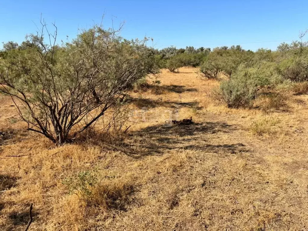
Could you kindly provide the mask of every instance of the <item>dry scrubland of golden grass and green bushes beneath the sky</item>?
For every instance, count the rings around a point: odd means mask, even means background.
[[[255,52],[43,34],[0,52],[0,230],[32,203],[29,230],[305,229],[305,33]]]

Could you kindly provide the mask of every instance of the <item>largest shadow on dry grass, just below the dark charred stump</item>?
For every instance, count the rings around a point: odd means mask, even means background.
[[[237,152],[243,144],[224,145],[189,145],[198,140],[205,141],[205,135],[217,132],[229,133],[236,130],[235,126],[220,122],[195,123],[179,126],[177,124],[162,124],[149,126],[140,131],[131,132],[125,142],[113,145],[107,149],[120,151],[128,156],[140,158],[148,155],[163,155],[172,149],[196,149],[205,152]],[[242,146],[241,146],[242,145]]]

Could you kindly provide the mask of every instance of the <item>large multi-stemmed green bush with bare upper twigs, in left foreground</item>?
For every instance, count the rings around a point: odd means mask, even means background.
[[[55,143],[75,140],[123,97],[132,85],[156,72],[146,41],[128,41],[98,26],[71,43],[45,43],[30,36],[24,50],[0,59],[0,91],[13,97],[28,129]],[[46,34],[45,34],[46,35]],[[89,116],[91,114],[91,116]]]

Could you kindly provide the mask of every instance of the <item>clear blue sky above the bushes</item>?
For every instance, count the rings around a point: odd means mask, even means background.
[[[156,48],[174,45],[216,47],[242,45],[276,49],[282,41],[298,39],[308,28],[306,0],[234,1],[93,1],[93,0],[1,0],[0,42],[18,43],[35,32],[40,14],[58,27],[61,39],[74,38],[77,28],[99,23],[109,27],[125,21],[126,39],[153,37]]]

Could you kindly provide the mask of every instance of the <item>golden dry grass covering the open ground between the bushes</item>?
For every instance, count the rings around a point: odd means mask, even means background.
[[[132,93],[122,143],[56,147],[24,132],[2,96],[0,230],[24,230],[30,203],[29,230],[306,230],[308,97],[290,96],[287,110],[229,109],[194,68],[159,80]],[[195,124],[171,124],[189,116]],[[94,204],[68,194],[63,180],[94,169]]]

